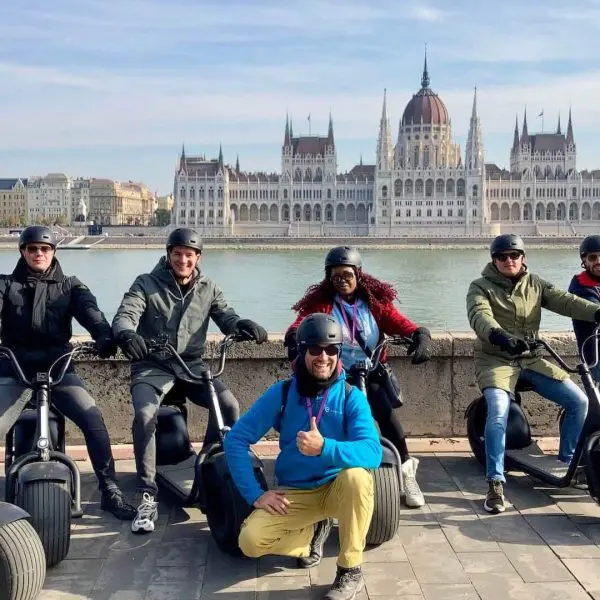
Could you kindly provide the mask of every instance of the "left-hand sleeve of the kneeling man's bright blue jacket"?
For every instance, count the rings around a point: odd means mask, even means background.
[[[256,444],[277,423],[281,413],[281,386],[272,385],[234,424],[225,436],[225,457],[240,494],[252,506],[263,490],[254,477],[250,445]]]

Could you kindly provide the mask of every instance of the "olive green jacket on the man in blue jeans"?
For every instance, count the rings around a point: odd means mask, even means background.
[[[481,275],[471,283],[467,293],[469,323],[477,334],[474,355],[479,388],[497,387],[514,392],[524,369],[559,381],[568,379],[565,371],[541,357],[541,350],[512,356],[489,342],[490,332],[500,328],[533,341],[538,338],[542,308],[565,317],[594,321],[598,305],[563,292],[528,271],[513,282],[490,262]]]

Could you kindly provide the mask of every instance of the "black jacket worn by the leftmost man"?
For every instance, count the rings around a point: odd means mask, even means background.
[[[46,273],[33,273],[21,257],[11,275],[0,275],[0,317],[2,345],[14,352],[28,377],[72,349],[73,318],[94,340],[112,336],[94,294],[77,277],[65,275],[56,258]],[[0,361],[0,375],[14,376],[8,360]]]

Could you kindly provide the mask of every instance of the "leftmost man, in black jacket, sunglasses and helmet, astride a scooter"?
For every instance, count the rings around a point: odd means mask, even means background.
[[[55,258],[56,238],[47,227],[27,227],[19,240],[21,258],[11,275],[0,275],[0,319],[3,346],[10,348],[31,378],[72,346],[73,317],[96,342],[101,358],[117,346],[96,298],[77,277],[63,274]],[[32,391],[17,379],[7,359],[0,360],[0,438],[15,424]],[[82,380],[69,367],[52,392],[52,403],[83,432],[102,493],[101,507],[118,519],[131,520],[133,506],[117,485],[108,431],[100,409]]]

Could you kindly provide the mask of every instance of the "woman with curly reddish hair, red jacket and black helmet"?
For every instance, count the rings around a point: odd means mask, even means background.
[[[297,319],[285,335],[285,346],[290,360],[296,357],[296,329],[302,319],[311,313],[331,314],[343,331],[342,364],[346,370],[358,360],[369,360],[384,334],[412,338],[408,348],[413,364],[424,363],[431,357],[431,334],[418,327],[394,306],[396,290],[362,270],[362,259],[356,248],[338,246],[325,258],[325,278],[311,285],[304,296],[292,307]],[[382,354],[381,362],[387,356]],[[351,373],[350,373],[351,375]],[[423,506],[425,500],[416,480],[419,461],[408,453],[406,436],[394,412],[400,404],[393,397],[390,386],[380,377],[369,377],[367,398],[381,435],[398,449],[402,461],[405,502],[407,506]]]

